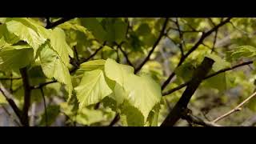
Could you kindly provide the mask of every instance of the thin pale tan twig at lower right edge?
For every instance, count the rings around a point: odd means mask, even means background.
[[[246,102],[249,102],[251,98],[254,98],[254,96],[256,95],[256,92],[254,92],[254,94],[251,94],[250,97],[246,98],[244,101],[242,101],[238,106],[235,106],[234,109],[228,111],[226,114],[222,114],[221,116],[219,116],[218,118],[215,118],[213,120],[213,122],[218,122],[219,120],[226,118],[227,116],[229,116],[230,114],[233,114],[236,111],[241,110],[242,106],[244,106],[246,104]]]

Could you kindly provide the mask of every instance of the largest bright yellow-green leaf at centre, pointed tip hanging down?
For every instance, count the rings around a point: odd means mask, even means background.
[[[160,102],[162,97],[158,83],[146,75],[135,75],[133,67],[118,64],[110,58],[106,60],[105,72],[106,77],[123,87],[126,94],[121,93],[122,96],[126,97],[132,106],[141,111],[146,122],[150,110]],[[116,97],[122,96],[118,94]]]

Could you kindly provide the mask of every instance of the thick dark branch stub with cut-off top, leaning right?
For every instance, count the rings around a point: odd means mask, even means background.
[[[182,115],[186,114],[186,106],[190,102],[190,98],[194,94],[195,90],[198,89],[198,86],[202,82],[203,78],[206,77],[206,74],[208,74],[213,64],[214,60],[207,57],[204,58],[201,65],[195,70],[193,78],[186,87],[182,97],[178,100],[174,109],[170,111],[170,114],[167,115],[161,126],[174,126],[178,119],[181,118]]]

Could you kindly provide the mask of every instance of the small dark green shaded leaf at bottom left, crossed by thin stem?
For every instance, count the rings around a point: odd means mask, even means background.
[[[47,113],[47,126],[50,126],[55,122],[58,114],[60,113],[60,106],[58,105],[50,105],[46,107]],[[44,112],[41,116],[41,121],[39,122],[40,126],[46,126],[46,113]]]

